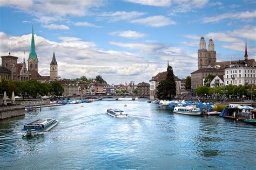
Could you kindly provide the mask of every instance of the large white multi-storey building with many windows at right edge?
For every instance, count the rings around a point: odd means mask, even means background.
[[[239,86],[240,84],[242,86],[244,86],[245,84],[255,84],[255,74],[256,67],[248,66],[247,63],[230,65],[230,67],[225,68],[225,86],[228,84],[233,84],[237,86]]]

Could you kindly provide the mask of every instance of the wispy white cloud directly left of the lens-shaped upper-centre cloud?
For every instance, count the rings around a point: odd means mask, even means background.
[[[103,12],[100,13],[98,16],[98,19],[106,19],[109,20],[109,22],[118,22],[120,20],[130,20],[133,18],[138,18],[140,16],[145,15],[144,12],[138,12],[138,11],[116,11],[116,12]]]

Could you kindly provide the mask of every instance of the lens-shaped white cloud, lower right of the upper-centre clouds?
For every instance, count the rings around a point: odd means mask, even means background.
[[[130,22],[134,24],[143,24],[143,25],[152,26],[152,27],[176,25],[176,22],[164,16],[150,16],[147,18],[133,19]]]

